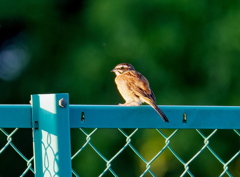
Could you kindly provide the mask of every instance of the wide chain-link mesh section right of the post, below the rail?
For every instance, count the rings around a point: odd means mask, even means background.
[[[72,134],[72,173],[77,177],[240,174],[239,130],[80,128]]]

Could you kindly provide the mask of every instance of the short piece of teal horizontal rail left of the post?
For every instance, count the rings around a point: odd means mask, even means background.
[[[32,128],[31,105],[0,105],[0,128]]]

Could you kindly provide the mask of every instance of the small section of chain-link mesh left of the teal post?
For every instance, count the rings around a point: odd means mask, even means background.
[[[20,131],[18,128],[8,130],[0,128],[0,157],[2,157],[0,161],[1,167],[6,167],[4,168],[5,170],[1,169],[1,177],[15,175],[20,177],[33,176],[34,157],[32,155],[32,141],[26,143],[26,139],[28,138],[24,137],[24,134],[25,132]],[[29,134],[29,131],[27,131],[27,134]],[[31,136],[31,134],[29,135]],[[19,137],[21,137],[21,139],[19,139]],[[14,139],[16,139],[16,143],[14,143]],[[30,147],[29,144],[31,145]],[[28,148],[24,145],[27,145]],[[27,156],[29,156],[30,152],[31,158],[27,158],[22,151],[27,151]],[[19,159],[19,157],[21,159]],[[12,161],[10,161],[10,159],[12,159]]]

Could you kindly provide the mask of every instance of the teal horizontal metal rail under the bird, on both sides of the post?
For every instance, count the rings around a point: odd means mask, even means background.
[[[150,106],[70,105],[71,128],[240,129],[239,106],[160,106],[165,123]],[[32,128],[31,105],[0,105],[0,128]],[[183,123],[184,114],[186,123]],[[84,120],[83,120],[84,119]]]

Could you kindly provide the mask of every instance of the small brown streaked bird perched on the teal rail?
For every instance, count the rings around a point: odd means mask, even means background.
[[[133,65],[120,63],[111,72],[116,75],[115,83],[118,91],[126,101],[120,106],[139,106],[142,103],[149,104],[160,115],[164,122],[169,122],[167,116],[156,104],[156,97],[150,88],[148,80]]]

